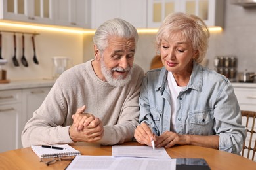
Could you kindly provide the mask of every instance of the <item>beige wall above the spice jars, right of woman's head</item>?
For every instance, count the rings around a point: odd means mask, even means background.
[[[224,31],[210,37],[209,67],[213,68],[215,56],[235,54],[238,71],[256,72],[256,7],[244,8],[226,1],[224,9]]]

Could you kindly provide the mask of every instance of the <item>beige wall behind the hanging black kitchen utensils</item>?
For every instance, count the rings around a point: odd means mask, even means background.
[[[7,79],[12,80],[29,80],[52,78],[52,58],[53,56],[70,57],[70,65],[76,65],[83,62],[83,36],[77,33],[64,33],[56,31],[41,31],[33,29],[21,29],[14,27],[1,26],[0,30],[6,31],[24,31],[37,32],[35,37],[36,56],[39,65],[33,63],[33,48],[31,35],[25,34],[25,57],[28,61],[28,67],[22,65],[22,34],[17,33],[17,52],[19,67],[14,67],[12,57],[14,56],[13,33],[2,33],[2,56],[7,59],[5,66],[7,69]]]

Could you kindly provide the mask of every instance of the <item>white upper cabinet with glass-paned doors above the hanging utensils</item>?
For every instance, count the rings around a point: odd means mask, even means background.
[[[53,24],[53,0],[0,0],[0,19]]]

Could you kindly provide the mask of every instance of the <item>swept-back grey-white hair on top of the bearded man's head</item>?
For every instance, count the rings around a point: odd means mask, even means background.
[[[98,47],[100,52],[108,47],[108,39],[110,37],[124,37],[126,39],[135,39],[135,43],[138,42],[137,29],[129,22],[114,18],[104,22],[95,32],[93,42]]]

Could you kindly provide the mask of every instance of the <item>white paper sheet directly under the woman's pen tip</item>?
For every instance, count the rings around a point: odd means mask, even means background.
[[[165,148],[152,149],[150,146],[112,146],[112,156],[170,159]]]

